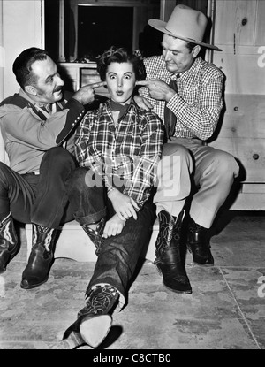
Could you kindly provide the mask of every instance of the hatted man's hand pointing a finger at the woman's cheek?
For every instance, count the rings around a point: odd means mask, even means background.
[[[140,80],[136,85],[148,88],[149,96],[159,101],[169,102],[176,95],[176,91],[160,79]]]

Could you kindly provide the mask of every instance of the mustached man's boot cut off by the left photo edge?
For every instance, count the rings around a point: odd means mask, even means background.
[[[0,274],[19,252],[19,241],[11,213],[0,222]]]

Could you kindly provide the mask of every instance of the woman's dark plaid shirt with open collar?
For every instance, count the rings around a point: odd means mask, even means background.
[[[88,111],[76,132],[76,157],[80,166],[102,176],[106,187],[122,187],[140,206],[155,185],[162,155],[163,123],[154,112],[132,102],[114,126],[110,101]]]

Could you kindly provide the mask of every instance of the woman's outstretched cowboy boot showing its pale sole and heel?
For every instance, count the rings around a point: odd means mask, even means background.
[[[82,344],[98,347],[106,338],[112,324],[111,313],[117,305],[119,294],[110,285],[96,286],[87,293],[87,305],[79,310],[77,320],[64,332],[57,349],[73,349]]]

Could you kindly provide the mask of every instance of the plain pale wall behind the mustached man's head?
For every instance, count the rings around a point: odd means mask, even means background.
[[[12,64],[22,50],[43,47],[43,0],[0,0],[0,98],[18,92]],[[6,161],[0,134],[0,161]]]

